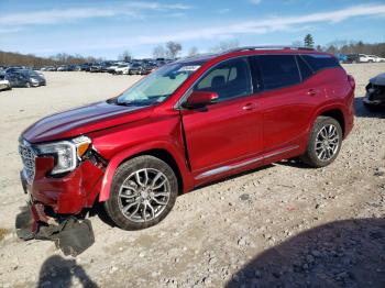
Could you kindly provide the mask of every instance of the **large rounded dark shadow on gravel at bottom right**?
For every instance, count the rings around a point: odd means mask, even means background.
[[[305,231],[257,255],[226,287],[385,287],[385,219]]]

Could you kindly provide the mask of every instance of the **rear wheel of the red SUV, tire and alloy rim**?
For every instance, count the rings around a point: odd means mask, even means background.
[[[315,168],[328,166],[337,158],[341,144],[340,123],[330,117],[318,117],[312,126],[306,153],[300,159]]]

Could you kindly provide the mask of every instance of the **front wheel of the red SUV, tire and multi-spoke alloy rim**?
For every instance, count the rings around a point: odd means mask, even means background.
[[[141,230],[161,222],[173,209],[177,195],[174,170],[165,162],[144,155],[119,166],[105,207],[119,228]]]

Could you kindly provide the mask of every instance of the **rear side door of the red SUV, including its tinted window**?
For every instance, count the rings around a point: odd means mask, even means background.
[[[258,55],[250,62],[262,82],[257,104],[263,110],[264,153],[279,155],[298,149],[305,144],[312,109],[322,91],[301,79],[296,55]],[[304,69],[311,76],[309,66]]]

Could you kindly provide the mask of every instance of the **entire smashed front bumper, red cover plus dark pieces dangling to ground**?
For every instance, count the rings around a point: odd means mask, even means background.
[[[30,199],[16,217],[16,234],[25,241],[54,241],[65,255],[76,256],[95,242],[91,222],[84,219],[82,210],[92,207],[103,171],[86,160],[70,174],[52,178],[46,176],[52,158],[37,157],[35,165],[32,182],[25,173],[20,174],[24,193]]]

